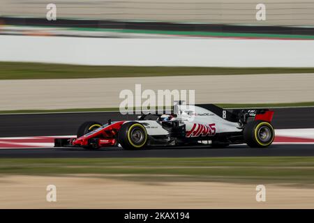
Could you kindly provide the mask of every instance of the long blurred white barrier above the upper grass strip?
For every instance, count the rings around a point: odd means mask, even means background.
[[[0,61],[111,66],[313,67],[314,40],[0,36]]]

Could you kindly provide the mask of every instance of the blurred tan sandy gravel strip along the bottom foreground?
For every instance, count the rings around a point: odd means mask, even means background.
[[[57,186],[57,202],[46,187]],[[265,185],[266,202],[251,184],[134,182],[96,176],[1,176],[0,208],[314,208],[314,189]]]

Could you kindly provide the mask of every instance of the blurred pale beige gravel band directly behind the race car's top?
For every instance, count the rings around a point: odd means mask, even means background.
[[[195,90],[196,103],[314,101],[314,74],[24,79],[0,81],[0,110],[119,107],[119,93],[135,95],[135,84],[142,92]]]

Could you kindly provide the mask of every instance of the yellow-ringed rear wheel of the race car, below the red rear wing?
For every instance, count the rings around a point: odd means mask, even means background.
[[[274,127],[267,121],[252,121],[244,128],[244,141],[250,147],[265,148],[273,143],[274,138]]]

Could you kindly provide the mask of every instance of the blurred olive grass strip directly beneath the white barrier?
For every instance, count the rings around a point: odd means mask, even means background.
[[[77,66],[48,63],[0,62],[0,79],[66,79],[174,75],[251,75],[281,73],[314,73],[314,68]]]

